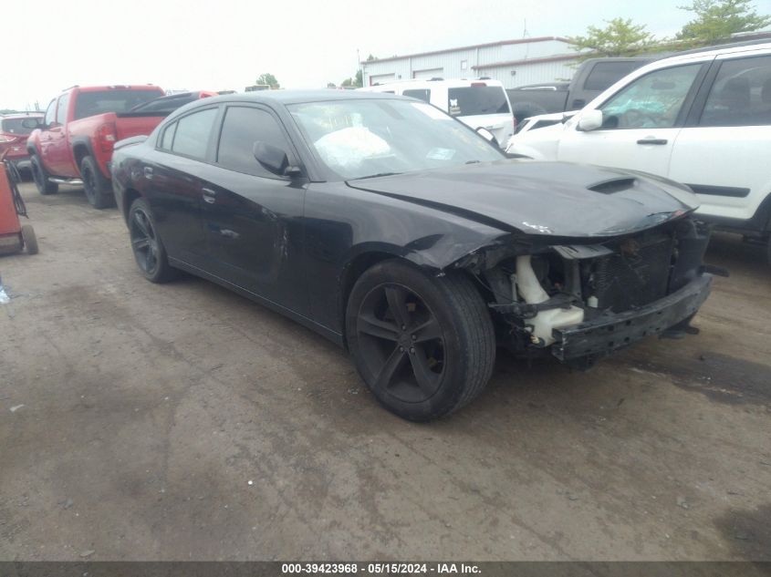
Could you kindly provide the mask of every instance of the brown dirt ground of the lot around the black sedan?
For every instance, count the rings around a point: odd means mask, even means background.
[[[23,187],[0,257],[0,560],[771,560],[771,267],[587,373],[499,356],[415,425],[322,337],[144,281],[116,210]]]

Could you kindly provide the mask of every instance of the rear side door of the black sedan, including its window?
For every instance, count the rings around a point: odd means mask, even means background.
[[[141,174],[169,256],[197,267],[208,250],[201,221],[202,177],[218,112],[218,107],[196,108],[164,127]]]

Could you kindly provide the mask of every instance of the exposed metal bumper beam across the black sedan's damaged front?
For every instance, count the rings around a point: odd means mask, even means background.
[[[660,335],[695,314],[712,288],[712,275],[702,274],[679,291],[624,313],[603,315],[579,325],[555,329],[551,352],[560,361],[600,357],[646,336]]]

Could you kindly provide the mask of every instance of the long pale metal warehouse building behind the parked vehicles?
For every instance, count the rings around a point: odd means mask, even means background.
[[[364,86],[410,78],[491,77],[505,88],[569,79],[577,54],[567,38],[541,36],[447,48],[361,63]]]

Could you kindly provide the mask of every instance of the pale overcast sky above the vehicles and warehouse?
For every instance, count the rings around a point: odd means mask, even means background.
[[[3,0],[0,108],[24,109],[78,84],[243,90],[356,73],[357,50],[391,57],[528,36],[572,36],[616,16],[672,36],[685,0]],[[771,0],[755,0],[771,14]],[[13,23],[9,26],[9,23]]]

